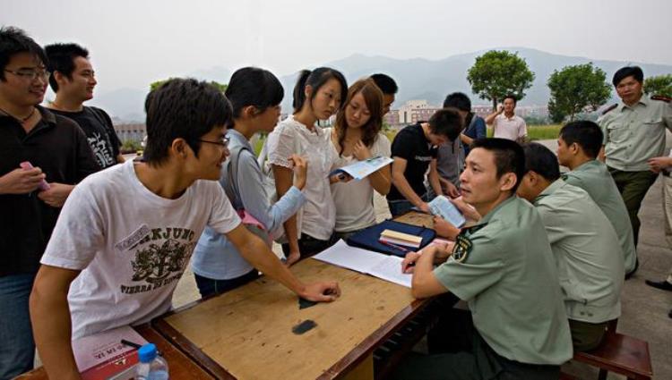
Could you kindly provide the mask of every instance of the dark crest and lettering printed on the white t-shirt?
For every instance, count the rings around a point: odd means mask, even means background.
[[[142,241],[124,252],[131,257],[133,283],[122,284],[121,292],[153,291],[179,280],[194,251],[195,238],[195,232],[187,228],[152,228]]]

